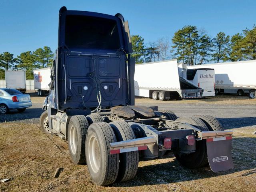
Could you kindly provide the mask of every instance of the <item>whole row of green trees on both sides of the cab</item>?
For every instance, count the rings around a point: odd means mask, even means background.
[[[233,36],[219,32],[210,38],[196,26],[184,26],[172,38],[159,38],[146,44],[142,36],[132,35],[131,41],[136,63],[176,58],[187,65],[199,65],[256,59],[255,25]],[[52,57],[53,52],[48,46],[22,52],[17,58],[10,52],[3,52],[0,54],[0,79],[5,78],[4,70],[26,70],[26,78],[33,79],[33,70],[51,66]]]

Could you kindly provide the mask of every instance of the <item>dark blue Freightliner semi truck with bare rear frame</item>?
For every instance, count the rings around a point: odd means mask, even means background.
[[[139,158],[168,150],[188,168],[208,163],[214,172],[232,168],[232,132],[223,131],[215,118],[177,118],[171,111],[134,105],[131,53],[121,14],[60,8],[42,132],[67,140],[72,162],[87,164],[100,186],[133,179]]]

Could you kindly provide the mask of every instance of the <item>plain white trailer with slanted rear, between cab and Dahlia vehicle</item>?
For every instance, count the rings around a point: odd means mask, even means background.
[[[166,100],[201,98],[203,90],[179,77],[177,60],[136,64],[135,95]]]

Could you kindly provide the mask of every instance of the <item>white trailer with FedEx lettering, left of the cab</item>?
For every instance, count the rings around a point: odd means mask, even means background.
[[[33,71],[35,90],[38,96],[45,96],[49,94],[49,84],[51,82],[51,68],[41,68]]]

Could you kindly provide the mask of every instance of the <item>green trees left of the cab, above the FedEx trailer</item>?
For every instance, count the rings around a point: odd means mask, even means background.
[[[10,52],[0,54],[0,79],[4,79],[4,70],[26,70],[26,79],[34,79],[33,70],[52,66],[53,52],[50,47],[35,51],[22,52],[17,58]]]

